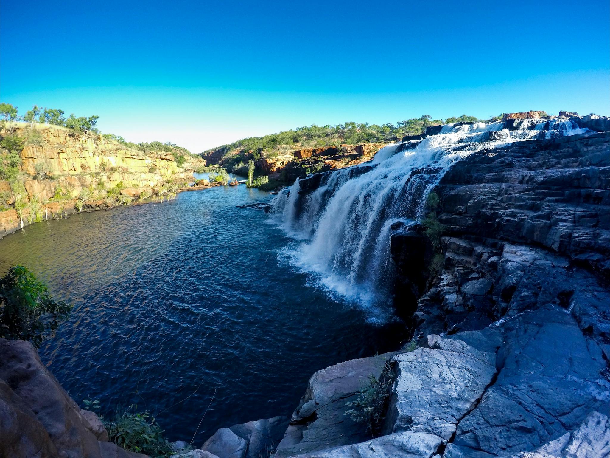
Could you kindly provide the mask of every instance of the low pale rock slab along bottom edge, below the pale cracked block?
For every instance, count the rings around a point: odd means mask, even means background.
[[[294,458],[431,458],[442,439],[423,432],[400,432],[367,442],[295,455]]]

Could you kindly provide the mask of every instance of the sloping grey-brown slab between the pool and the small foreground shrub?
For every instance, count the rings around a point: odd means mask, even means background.
[[[309,379],[307,391],[290,419],[276,457],[363,442],[370,437],[366,427],[354,423],[345,412],[346,403],[370,376],[379,379],[394,353],[361,358],[322,369]]]

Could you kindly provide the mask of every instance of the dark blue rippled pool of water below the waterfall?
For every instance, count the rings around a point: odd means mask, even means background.
[[[79,404],[99,399],[109,415],[136,403],[188,442],[216,390],[199,446],[219,427],[290,415],[318,369],[398,347],[403,325],[310,286],[278,256],[290,239],[236,207],[271,197],[183,192],[0,240],[2,274],[24,264],[75,305],[40,355]]]

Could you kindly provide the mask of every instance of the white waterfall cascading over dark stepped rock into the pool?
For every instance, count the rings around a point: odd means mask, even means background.
[[[586,131],[567,120],[523,120],[515,127],[504,129],[503,122],[445,125],[417,145],[382,148],[373,161],[356,166],[367,167],[364,173],[326,173],[310,192],[296,180],[273,201],[283,227],[301,240],[290,252],[293,264],[358,302],[370,305],[387,297],[393,278],[392,225],[422,219],[429,191],[451,164],[482,149]],[[494,140],[489,140],[492,131]],[[413,173],[425,167],[426,173]]]

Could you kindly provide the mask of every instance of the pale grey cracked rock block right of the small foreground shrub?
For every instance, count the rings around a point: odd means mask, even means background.
[[[449,440],[496,374],[495,353],[428,336],[430,348],[396,355],[386,432],[429,432]]]

